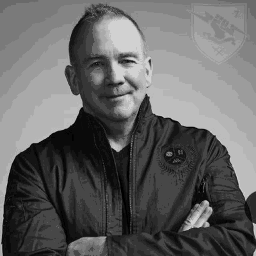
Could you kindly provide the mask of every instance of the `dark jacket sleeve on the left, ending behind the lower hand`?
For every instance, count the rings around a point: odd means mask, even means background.
[[[66,235],[40,176],[38,163],[19,154],[12,163],[4,201],[3,256],[61,256]]]

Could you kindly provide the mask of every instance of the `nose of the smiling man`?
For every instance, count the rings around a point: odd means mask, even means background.
[[[106,70],[105,82],[106,85],[110,86],[124,84],[124,69],[118,63],[109,64]]]

